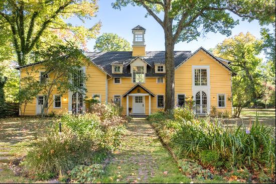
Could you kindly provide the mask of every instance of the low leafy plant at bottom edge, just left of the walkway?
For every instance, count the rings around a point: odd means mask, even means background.
[[[69,171],[70,179],[77,183],[93,183],[96,178],[104,173],[101,164],[92,164],[89,166],[77,165]]]

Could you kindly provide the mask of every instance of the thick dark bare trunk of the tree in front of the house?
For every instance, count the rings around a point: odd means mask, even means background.
[[[175,106],[175,62],[174,41],[171,26],[165,29],[165,64],[166,64],[166,100],[165,111],[174,109]]]

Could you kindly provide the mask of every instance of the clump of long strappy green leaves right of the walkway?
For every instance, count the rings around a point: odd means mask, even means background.
[[[203,151],[216,152],[219,161],[235,167],[259,167],[275,169],[275,137],[273,128],[260,125],[258,119],[250,130],[239,126],[224,127],[216,120],[182,120],[174,146],[179,154],[200,159]],[[223,165],[223,164],[221,164]]]

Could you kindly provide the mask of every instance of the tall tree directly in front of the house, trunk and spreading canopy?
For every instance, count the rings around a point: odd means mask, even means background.
[[[249,0],[116,0],[112,6],[121,9],[128,4],[143,6],[163,28],[166,50],[165,110],[175,105],[174,46],[192,41],[201,34],[219,32],[229,36],[238,24],[233,15],[243,20],[271,21],[275,17],[275,2]],[[161,18],[162,17],[162,18]]]

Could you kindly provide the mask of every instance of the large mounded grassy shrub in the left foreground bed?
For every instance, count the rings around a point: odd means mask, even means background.
[[[72,131],[66,130],[61,137],[52,133],[38,139],[28,152],[23,166],[28,175],[49,179],[66,173],[76,164],[89,164],[93,153],[93,144],[89,140],[80,139]]]

